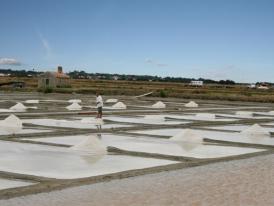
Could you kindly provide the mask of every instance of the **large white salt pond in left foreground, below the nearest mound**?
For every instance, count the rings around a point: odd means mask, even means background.
[[[74,179],[169,165],[175,161],[125,155],[84,155],[66,148],[0,141],[0,171]]]

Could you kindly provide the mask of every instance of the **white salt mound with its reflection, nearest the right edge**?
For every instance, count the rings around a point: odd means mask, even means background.
[[[240,134],[254,141],[271,136],[270,132],[268,132],[265,128],[261,127],[259,124],[254,124],[248,127],[247,129],[241,131]]]

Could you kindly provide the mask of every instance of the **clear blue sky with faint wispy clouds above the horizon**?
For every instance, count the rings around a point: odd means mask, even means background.
[[[274,82],[274,0],[0,0],[0,68]]]

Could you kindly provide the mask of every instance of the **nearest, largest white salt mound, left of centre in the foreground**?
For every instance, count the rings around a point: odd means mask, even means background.
[[[84,152],[92,155],[105,155],[107,154],[107,148],[101,143],[96,136],[88,136],[79,144],[72,146],[71,150]]]

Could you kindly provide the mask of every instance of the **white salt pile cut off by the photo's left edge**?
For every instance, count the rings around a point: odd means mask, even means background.
[[[0,128],[1,130],[14,134],[22,130],[23,123],[17,116],[11,114],[6,119],[0,121]]]

